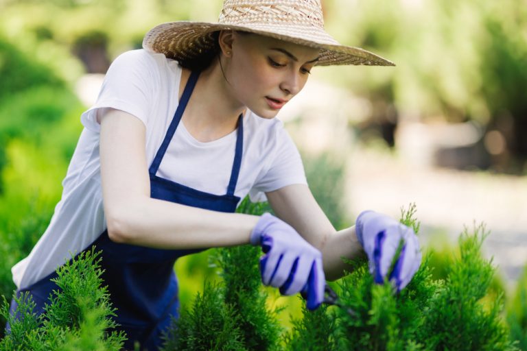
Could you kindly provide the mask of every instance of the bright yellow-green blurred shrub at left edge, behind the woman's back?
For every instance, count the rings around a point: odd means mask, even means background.
[[[16,138],[5,154],[10,162],[0,178],[0,295],[10,297],[11,267],[30,253],[45,232],[60,199],[67,162],[54,147],[39,148]],[[0,337],[4,323],[0,317]]]

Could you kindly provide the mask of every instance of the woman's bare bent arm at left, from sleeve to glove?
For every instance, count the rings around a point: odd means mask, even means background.
[[[259,217],[150,198],[145,126],[127,112],[98,110],[104,213],[110,239],[165,249],[249,243]]]

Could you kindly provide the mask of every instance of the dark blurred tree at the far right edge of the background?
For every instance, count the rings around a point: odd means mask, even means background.
[[[491,112],[489,129],[506,136],[509,152],[527,160],[527,8],[520,1],[495,4],[484,21],[481,93]]]

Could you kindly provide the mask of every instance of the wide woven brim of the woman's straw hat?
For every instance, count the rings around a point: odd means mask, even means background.
[[[275,24],[231,25],[229,23],[206,23],[177,21],[162,23],[150,29],[143,38],[143,48],[163,53],[167,58],[192,58],[201,55],[213,45],[213,32],[233,29],[260,34],[298,45],[320,49],[317,66],[353,64],[368,66],[395,66],[382,58],[359,47],[340,45],[329,34],[322,31],[307,32],[301,27],[278,27]]]

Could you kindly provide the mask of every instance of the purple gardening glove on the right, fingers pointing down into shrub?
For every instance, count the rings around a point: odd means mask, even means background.
[[[368,255],[370,272],[378,284],[382,284],[390,273],[388,269],[399,242],[403,241],[403,248],[388,280],[395,283],[397,291],[406,287],[421,265],[419,241],[412,228],[391,217],[368,210],[357,217],[355,231]]]

